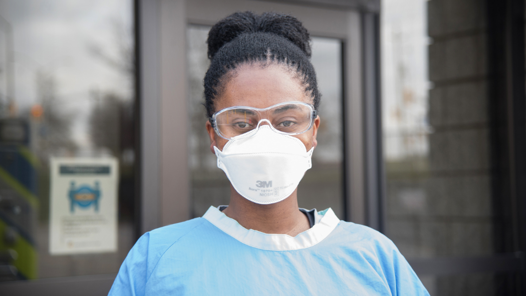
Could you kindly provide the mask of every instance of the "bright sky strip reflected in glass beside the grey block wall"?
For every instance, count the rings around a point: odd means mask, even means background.
[[[383,0],[382,124],[387,159],[426,155],[428,141],[427,0]]]

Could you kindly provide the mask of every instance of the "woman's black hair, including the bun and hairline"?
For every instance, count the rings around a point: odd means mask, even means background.
[[[314,108],[320,93],[310,63],[310,36],[301,22],[290,15],[237,12],[221,19],[208,33],[210,67],[204,79],[205,107],[214,114],[214,99],[220,95],[224,76],[246,63],[278,63],[294,70],[310,93]]]

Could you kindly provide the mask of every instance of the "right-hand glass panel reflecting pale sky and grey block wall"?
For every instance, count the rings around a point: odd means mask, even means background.
[[[430,3],[382,2],[386,234],[407,258],[491,256],[497,221],[488,110],[485,82],[474,78],[485,77],[485,44],[464,46],[464,24],[444,25],[461,12],[485,12],[469,1],[451,2],[446,11],[443,2]],[[473,63],[463,63],[467,56]],[[463,278],[426,287],[440,295],[495,293],[491,275]]]

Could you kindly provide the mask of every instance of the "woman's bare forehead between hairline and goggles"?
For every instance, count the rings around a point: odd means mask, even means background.
[[[287,101],[312,104],[295,72],[279,65],[242,65],[225,81],[214,106],[216,111],[232,106],[266,108]]]

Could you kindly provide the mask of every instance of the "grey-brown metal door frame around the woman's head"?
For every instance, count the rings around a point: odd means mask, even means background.
[[[187,166],[186,28],[212,25],[235,12],[297,16],[313,36],[343,42],[345,199],[349,221],[366,224],[362,14],[379,0],[135,0],[137,65],[138,230],[140,235],[190,217]],[[351,184],[353,186],[351,186]],[[107,294],[116,274],[0,284],[8,295]]]

